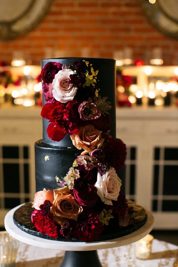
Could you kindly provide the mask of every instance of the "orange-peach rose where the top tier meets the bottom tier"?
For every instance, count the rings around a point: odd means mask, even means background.
[[[71,134],[72,143],[77,149],[84,149],[81,154],[87,154],[93,149],[101,147],[104,139],[101,137],[101,132],[94,128],[93,125],[80,127],[78,132]]]

